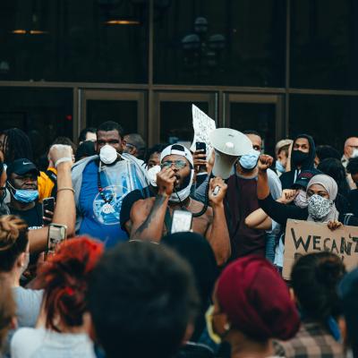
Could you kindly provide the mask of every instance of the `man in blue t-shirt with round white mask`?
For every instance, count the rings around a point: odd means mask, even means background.
[[[97,237],[107,247],[126,241],[119,217],[128,192],[148,186],[137,158],[124,153],[124,130],[108,121],[97,129],[96,152],[72,168],[77,209],[76,233]]]

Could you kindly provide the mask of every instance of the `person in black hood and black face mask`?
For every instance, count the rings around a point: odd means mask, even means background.
[[[291,189],[297,175],[303,170],[314,171],[314,158],[316,157],[316,148],[313,138],[308,134],[298,135],[292,147],[291,170],[280,176],[282,190]]]

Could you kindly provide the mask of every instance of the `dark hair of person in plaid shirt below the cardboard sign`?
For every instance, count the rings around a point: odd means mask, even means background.
[[[303,316],[325,322],[337,315],[337,285],[344,275],[344,263],[330,252],[310,253],[297,260],[291,279]]]

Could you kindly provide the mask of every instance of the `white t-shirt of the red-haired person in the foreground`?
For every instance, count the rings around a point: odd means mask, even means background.
[[[86,334],[58,333],[45,328],[20,328],[11,341],[12,358],[96,358]]]

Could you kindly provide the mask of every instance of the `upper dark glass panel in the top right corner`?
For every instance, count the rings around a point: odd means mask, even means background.
[[[358,89],[358,2],[291,2],[291,87]]]

